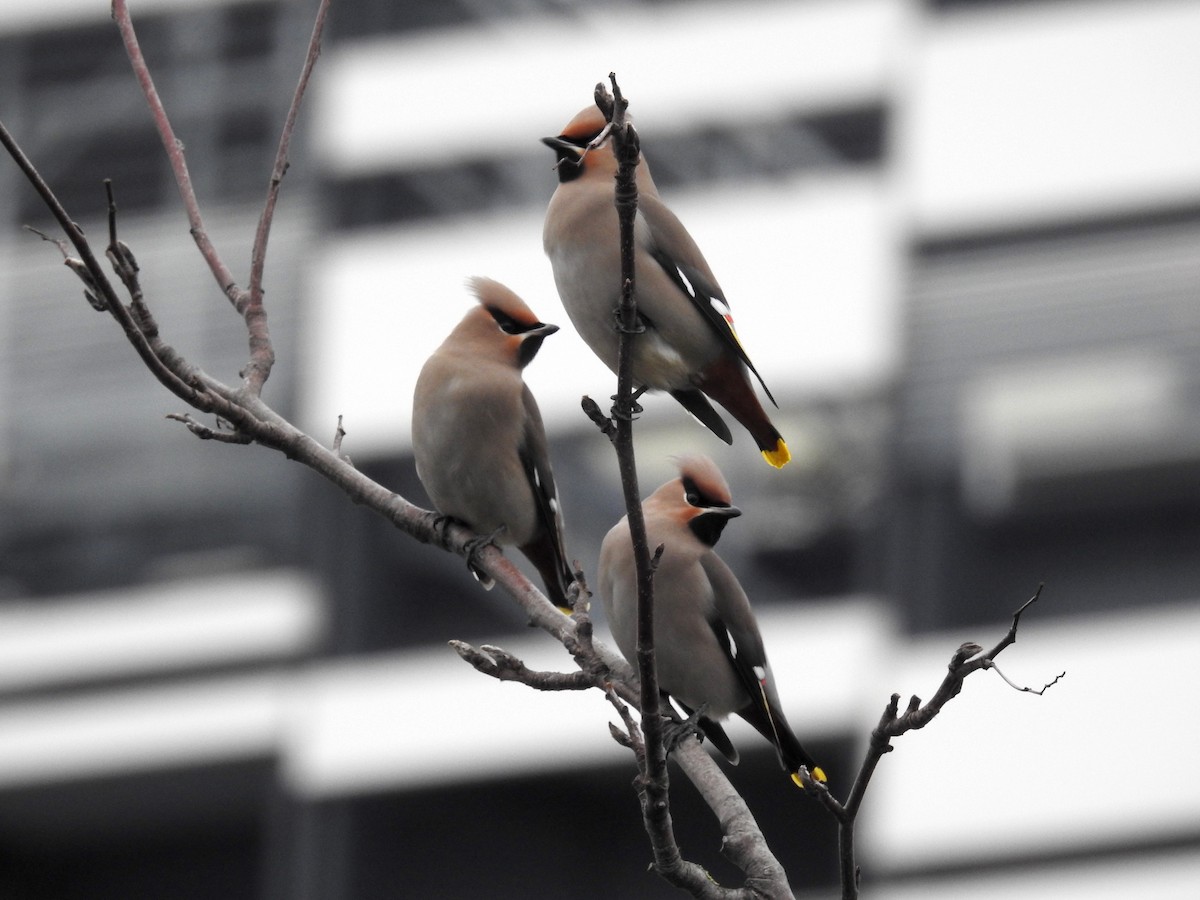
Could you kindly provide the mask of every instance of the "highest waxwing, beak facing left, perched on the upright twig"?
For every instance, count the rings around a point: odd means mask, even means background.
[[[587,149],[605,124],[604,114],[592,106],[558,137],[542,138],[558,155],[558,188],[546,210],[542,245],[571,323],[616,372],[617,158],[611,138]],[[668,391],[721,440],[732,443],[728,426],[706,395],[715,400],[745,426],[767,462],[782,467],[791,454],[763,412],[749,372],[772,403],[775,398],[738,341],[725,294],[700,247],[659,199],[644,157],[637,163],[636,180],[634,271],[637,313],[646,331],[634,347],[634,380],[640,388]]]

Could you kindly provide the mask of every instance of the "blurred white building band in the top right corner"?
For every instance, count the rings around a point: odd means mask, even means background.
[[[1200,199],[1200,5],[1003,5],[922,32],[896,143],[926,233]]]

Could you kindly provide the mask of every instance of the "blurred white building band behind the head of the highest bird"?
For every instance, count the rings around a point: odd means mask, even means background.
[[[877,98],[904,7],[581,4],[564,18],[347,43],[322,59],[316,137],[342,173],[532,149],[610,72],[654,128]]]

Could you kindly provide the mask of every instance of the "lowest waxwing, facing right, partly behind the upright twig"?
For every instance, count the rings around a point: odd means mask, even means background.
[[[797,784],[800,766],[824,781],[824,772],[784,718],[750,601],[713,551],[726,523],[742,510],[730,505],[730,488],[712,460],[689,456],[678,462],[679,478],[642,503],[649,547],[664,546],[654,572],[659,688],[689,715],[701,712],[701,730],[730,762],[738,761],[737,750],[715,720],[737,713],[775,745]],[[637,581],[628,518],[613,526],[600,547],[598,590],[617,646],[634,662]]]

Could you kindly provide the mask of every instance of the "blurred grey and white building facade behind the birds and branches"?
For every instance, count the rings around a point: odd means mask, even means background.
[[[314,7],[133,4],[242,282]],[[868,895],[1194,898],[1198,46],[1184,0],[338,0],[271,235],[266,398],[323,440],[343,415],[355,463],[426,503],[415,373],[469,275],[569,325],[538,138],[616,71],[794,454],[774,472],[648,398],[643,493],[676,452],[725,469],[746,515],[721,552],[835,790],[893,691],[929,696],[1046,584],[1000,661],[1066,679],[977,674],[898,742]],[[4,5],[0,116],[97,245],[114,180],[167,340],[235,379],[241,323],[104,0]],[[181,404],[24,223],[52,228],[0,162],[0,896],[674,895],[606,704],[445,642],[562,649],[282,456],[166,421]],[[592,574],[619,493],[577,404],[613,379],[564,328],[528,380]],[[836,895],[832,822],[733,734],[797,889]],[[685,853],[730,878],[676,784]]]

